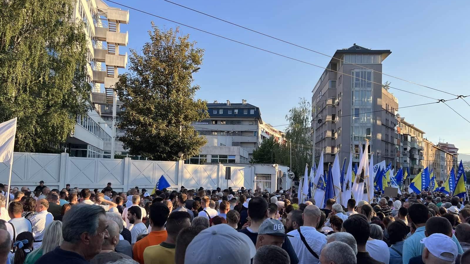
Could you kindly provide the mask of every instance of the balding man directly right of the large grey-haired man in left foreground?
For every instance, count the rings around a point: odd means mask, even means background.
[[[119,243],[119,226],[115,221],[108,221],[107,239],[104,239],[101,252],[90,260],[90,264],[104,264],[118,261],[123,258],[132,259],[130,256],[115,252],[116,245]]]

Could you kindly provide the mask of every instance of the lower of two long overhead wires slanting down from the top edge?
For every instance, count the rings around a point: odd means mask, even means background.
[[[180,22],[177,22],[177,21],[168,19],[168,18],[164,18],[164,17],[162,17],[162,16],[157,16],[157,15],[155,15],[155,14],[152,14],[152,13],[149,13],[149,12],[146,12],[146,11],[143,11],[143,10],[141,10],[141,9],[133,8],[133,7],[130,7],[130,6],[126,6],[126,5],[124,5],[124,4],[121,4],[121,3],[118,3],[118,2],[115,2],[115,1],[112,1],[112,0],[106,0],[106,1],[108,1],[108,2],[110,2],[110,3],[113,3],[113,4],[116,4],[116,5],[119,5],[119,6],[122,6],[122,7],[125,7],[125,8],[129,8],[129,9],[132,9],[132,10],[135,10],[135,11],[138,11],[138,12],[141,12],[141,13],[143,13],[143,14],[147,14],[147,15],[149,15],[149,16],[154,16],[154,17],[157,17],[157,18],[160,18],[160,19],[163,19],[163,20],[172,22],[172,23],[180,24],[180,25],[182,25],[182,26],[185,26],[185,27],[188,27],[188,28],[197,30],[197,31],[201,31],[201,32],[210,34],[210,35],[212,35],[212,36],[216,36],[216,37],[219,37],[219,38],[222,38],[222,39],[230,40],[230,41],[233,41],[233,42],[238,43],[238,44],[242,44],[242,45],[247,46],[247,47],[252,47],[252,48],[255,48],[255,49],[258,49],[258,50],[261,50],[261,51],[265,51],[265,52],[267,52],[267,53],[271,53],[271,54],[274,54],[274,55],[278,55],[278,56],[281,56],[281,57],[284,57],[284,58],[287,58],[287,59],[290,59],[290,60],[294,60],[294,61],[297,61],[297,62],[302,62],[302,63],[308,64],[308,65],[311,65],[311,66],[315,66],[315,67],[318,67],[318,68],[321,68],[321,69],[324,69],[324,70],[329,70],[329,71],[337,72],[337,73],[343,74],[343,75],[345,75],[345,76],[350,76],[350,77],[352,77],[352,78],[364,80],[364,81],[366,81],[366,82],[370,82],[370,83],[373,83],[373,84],[376,84],[376,85],[381,85],[381,86],[383,85],[383,84],[380,84],[380,83],[377,83],[377,82],[374,82],[374,81],[369,81],[369,80],[367,80],[367,79],[363,79],[363,78],[359,78],[359,77],[354,77],[354,76],[352,76],[352,75],[350,75],[350,74],[346,74],[346,73],[343,73],[343,72],[339,72],[339,71],[337,71],[337,70],[330,70],[330,69],[328,69],[328,68],[326,68],[326,67],[322,67],[322,66],[319,66],[319,65],[310,63],[310,62],[305,62],[305,61],[302,61],[302,60],[299,60],[299,59],[296,59],[296,58],[293,58],[293,57],[289,57],[289,56],[286,56],[286,55],[283,55],[283,54],[279,54],[279,53],[276,53],[276,52],[273,52],[273,51],[270,51],[270,50],[267,50],[267,49],[264,49],[264,48],[261,48],[261,47],[256,47],[256,46],[253,46],[253,45],[250,45],[250,44],[247,44],[247,43],[244,43],[244,42],[235,40],[235,39],[230,39],[230,38],[227,38],[227,37],[224,37],[224,36],[221,36],[221,35],[218,35],[218,34],[209,32],[209,31],[205,31],[205,30],[202,30],[202,29],[198,29],[198,28],[193,27],[193,26],[190,26],[190,25],[188,25],[188,24],[180,23]],[[392,88],[392,89],[395,89],[395,90],[399,90],[399,91],[405,92],[405,93],[411,93],[411,94],[415,94],[415,95],[418,95],[418,96],[422,96],[422,97],[425,97],[425,98],[429,98],[429,99],[433,99],[433,100],[439,101],[439,99],[436,99],[436,98],[433,98],[433,97],[430,97],[430,96],[426,96],[426,95],[423,95],[423,94],[413,93],[413,92],[410,92],[410,91],[407,91],[407,90],[403,90],[403,89],[399,89],[399,88],[392,87],[392,86],[389,86],[389,87]]]

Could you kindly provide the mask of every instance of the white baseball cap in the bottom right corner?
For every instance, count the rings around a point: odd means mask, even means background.
[[[429,252],[445,261],[455,261],[459,254],[457,245],[452,238],[441,233],[434,233],[421,240]]]

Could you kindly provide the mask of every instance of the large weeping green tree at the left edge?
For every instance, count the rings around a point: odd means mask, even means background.
[[[86,35],[73,1],[0,1],[0,122],[18,117],[16,151],[55,152],[91,109]]]

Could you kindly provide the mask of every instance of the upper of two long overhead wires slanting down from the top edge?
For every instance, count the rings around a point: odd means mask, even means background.
[[[191,10],[191,11],[197,12],[197,13],[202,14],[202,15],[204,15],[204,16],[209,16],[209,17],[211,17],[211,18],[214,18],[214,19],[223,21],[223,22],[225,22],[225,23],[229,23],[229,24],[231,24],[231,25],[234,25],[234,26],[243,28],[243,29],[245,29],[245,30],[248,30],[248,31],[251,31],[251,32],[255,32],[255,33],[260,34],[260,35],[263,35],[263,36],[265,36],[265,37],[268,37],[268,38],[271,38],[271,39],[275,39],[275,40],[279,40],[279,41],[284,42],[284,43],[286,43],[286,44],[289,44],[289,45],[292,45],[292,46],[295,46],[295,47],[299,47],[299,48],[302,48],[302,49],[305,49],[305,50],[314,52],[314,53],[316,53],[316,54],[321,54],[321,55],[323,55],[323,56],[327,56],[327,57],[333,58],[333,56],[330,56],[330,55],[328,55],[328,54],[324,54],[324,53],[321,53],[321,52],[319,52],[319,51],[316,51],[316,50],[313,50],[313,49],[310,49],[310,48],[307,48],[307,47],[300,46],[300,45],[298,45],[298,44],[289,42],[289,41],[287,41],[287,40],[283,40],[283,39],[279,39],[279,38],[273,37],[273,36],[271,36],[271,35],[268,35],[268,34],[265,34],[265,33],[260,32],[260,31],[256,31],[256,30],[250,29],[250,28],[248,28],[248,27],[244,27],[244,26],[242,26],[242,25],[239,25],[239,24],[236,24],[236,23],[233,23],[233,22],[224,20],[224,19],[219,18],[219,17],[216,17],[216,16],[211,16],[211,15],[206,14],[206,13],[204,13],[204,12],[198,11],[198,10],[193,9],[193,8],[188,8],[188,7],[186,7],[186,6],[180,5],[180,4],[175,3],[175,2],[172,2],[172,1],[170,1],[170,0],[164,0],[164,1],[165,1],[165,2],[168,2],[168,3],[171,3],[171,4],[173,4],[173,5],[177,5],[177,6],[179,6],[179,7],[186,8],[186,9],[189,9],[189,10]],[[337,59],[338,61],[341,61],[341,62],[345,62],[344,60],[339,59],[339,58],[335,58],[335,59]],[[392,77],[392,78],[395,78],[395,79],[399,79],[399,80],[402,80],[402,81],[405,81],[405,82],[408,82],[408,83],[411,83],[411,84],[414,84],[414,85],[419,85],[419,86],[423,86],[423,87],[426,87],[426,88],[429,88],[429,89],[432,89],[432,90],[435,90],[435,91],[439,91],[439,92],[442,92],[442,93],[447,93],[447,94],[450,94],[450,95],[458,96],[458,95],[455,95],[455,94],[453,94],[453,93],[448,93],[448,92],[446,92],[446,91],[442,91],[442,90],[439,90],[439,89],[436,89],[436,88],[432,88],[432,87],[427,86],[427,85],[421,85],[421,84],[418,84],[418,83],[415,83],[415,82],[412,82],[412,81],[405,80],[405,79],[403,79],[403,78],[395,77],[395,76],[392,76],[392,75],[389,75],[389,74],[385,74],[385,73],[380,72],[380,71],[376,71],[376,70],[374,70],[374,69],[369,69],[369,68],[367,68],[367,67],[364,67],[364,66],[361,66],[361,65],[358,65],[358,64],[354,64],[354,63],[351,63],[351,62],[346,62],[346,63],[352,64],[352,65],[357,66],[357,67],[360,67],[360,68],[362,68],[362,69],[371,70],[371,71],[373,71],[373,72],[380,73],[380,74],[383,74],[383,75],[386,75],[386,76],[389,76],[389,77]],[[470,105],[469,105],[469,106],[470,106]]]

